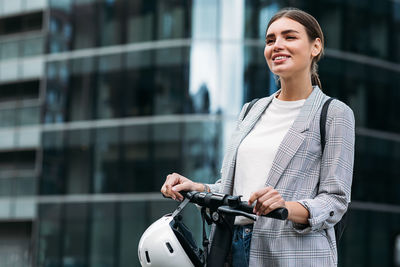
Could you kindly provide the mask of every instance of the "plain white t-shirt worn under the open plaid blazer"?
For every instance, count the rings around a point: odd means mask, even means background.
[[[247,201],[252,193],[265,187],[278,148],[305,101],[273,98],[238,148],[233,195],[242,195]],[[249,223],[253,221],[236,217],[235,224]]]

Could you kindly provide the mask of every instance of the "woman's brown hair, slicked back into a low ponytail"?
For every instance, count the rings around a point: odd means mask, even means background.
[[[313,58],[313,60],[311,62],[310,71],[311,71],[312,85],[318,85],[319,88],[322,88],[321,81],[319,80],[319,76],[318,76],[317,62],[321,59],[322,55],[324,54],[324,34],[322,33],[322,30],[318,24],[318,21],[313,16],[311,16],[307,12],[304,12],[300,9],[293,8],[293,7],[284,8],[284,9],[281,9],[278,13],[276,13],[271,18],[271,20],[269,21],[268,26],[267,26],[267,31],[268,31],[269,26],[271,26],[271,24],[274,21],[276,21],[280,18],[289,18],[289,19],[297,21],[298,23],[303,25],[304,28],[306,29],[308,39],[310,41],[314,41],[316,38],[321,39],[321,45],[322,45],[321,52],[316,57]]]

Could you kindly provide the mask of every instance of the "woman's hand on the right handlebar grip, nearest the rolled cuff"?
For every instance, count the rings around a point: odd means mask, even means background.
[[[281,194],[271,186],[264,187],[254,192],[249,198],[249,205],[257,201],[253,212],[257,215],[265,215],[274,209],[286,207],[286,201]]]

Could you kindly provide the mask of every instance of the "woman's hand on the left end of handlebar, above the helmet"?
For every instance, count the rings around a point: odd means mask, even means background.
[[[179,191],[201,192],[204,191],[204,185],[195,183],[178,173],[168,175],[167,179],[165,179],[165,183],[161,187],[161,193],[166,197],[182,201],[183,196],[179,194]]]

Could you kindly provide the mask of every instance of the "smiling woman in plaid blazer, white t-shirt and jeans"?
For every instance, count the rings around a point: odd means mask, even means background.
[[[264,57],[281,89],[239,116],[221,179],[204,185],[171,174],[161,192],[182,200],[180,190],[243,195],[254,212],[278,207],[287,221],[259,217],[235,221],[233,266],[336,266],[333,226],[350,202],[354,116],[339,100],[330,103],[322,153],[319,118],[329,98],[320,90],[317,62],[324,37],[318,22],[298,9],[270,20]],[[244,240],[243,240],[244,239]]]

